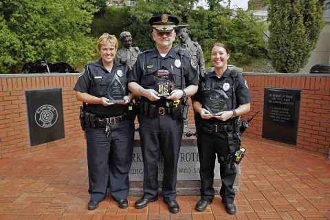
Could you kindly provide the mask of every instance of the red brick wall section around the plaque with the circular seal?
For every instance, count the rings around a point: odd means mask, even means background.
[[[83,138],[72,87],[78,74],[0,75],[0,158],[32,153]],[[62,88],[65,139],[30,146],[25,90]]]

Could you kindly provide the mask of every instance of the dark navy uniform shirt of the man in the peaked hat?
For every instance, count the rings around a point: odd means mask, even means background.
[[[172,47],[166,56],[162,57],[157,48],[146,50],[137,56],[137,61],[133,65],[133,69],[129,74],[129,82],[135,82],[144,89],[155,89],[157,91],[157,83],[153,73],[158,69],[165,67],[173,75],[174,89],[181,89],[181,68],[184,74],[184,85],[198,85],[198,72],[196,66],[193,66],[190,58],[186,55],[180,59],[179,54]],[[147,98],[142,97],[143,101],[151,102]],[[167,100],[168,101],[168,100]],[[161,98],[153,102],[159,107],[165,107],[166,99]]]

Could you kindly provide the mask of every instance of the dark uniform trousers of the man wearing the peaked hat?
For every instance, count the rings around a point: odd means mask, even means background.
[[[164,157],[164,179],[162,195],[166,201],[176,198],[177,161],[181,146],[183,123],[172,115],[148,118],[139,115],[144,177],[144,197],[158,195],[158,162],[160,153]]]

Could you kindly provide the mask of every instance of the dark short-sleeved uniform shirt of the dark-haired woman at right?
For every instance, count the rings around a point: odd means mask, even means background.
[[[223,72],[221,78],[217,76],[217,74],[213,71],[212,73],[208,74],[201,80],[197,94],[193,96],[193,100],[200,102],[202,107],[205,108],[203,104],[203,92],[210,91],[210,89],[217,89],[217,90],[223,90],[225,91],[225,94],[228,96],[226,109],[225,111],[228,111],[230,109],[233,109],[232,107],[232,100],[233,100],[233,94],[232,94],[232,87],[233,87],[233,80],[235,80],[235,107],[239,107],[241,104],[248,104],[251,101],[250,98],[250,91],[248,87],[248,83],[246,83],[246,80],[243,78],[243,76],[237,76],[236,78],[232,78],[230,76],[230,70],[226,69],[225,72]],[[214,121],[214,118],[211,118],[210,120]],[[219,121],[219,120],[217,120]]]

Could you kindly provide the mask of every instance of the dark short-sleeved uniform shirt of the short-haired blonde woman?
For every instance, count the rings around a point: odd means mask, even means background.
[[[120,83],[125,87],[125,94],[123,94],[125,96],[128,94],[128,71],[129,67],[115,62],[109,73],[100,59],[95,63],[89,63],[86,65],[83,73],[79,76],[78,81],[74,86],[74,90],[90,94],[91,96],[109,98],[108,87],[115,74],[117,74]],[[128,110],[128,105],[111,104],[106,107],[102,104],[87,104],[87,110],[90,113],[98,115],[100,118],[110,118],[124,114]]]

